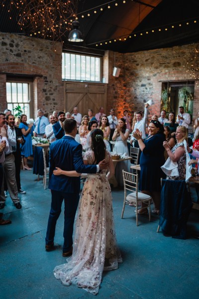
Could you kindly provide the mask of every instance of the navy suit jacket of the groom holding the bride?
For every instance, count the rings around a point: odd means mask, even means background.
[[[73,137],[64,136],[53,142],[49,153],[49,186],[55,191],[67,193],[80,192],[80,177],[54,175],[53,170],[59,167],[62,170],[76,170],[79,173],[96,173],[96,165],[84,165],[82,159],[82,145]]]

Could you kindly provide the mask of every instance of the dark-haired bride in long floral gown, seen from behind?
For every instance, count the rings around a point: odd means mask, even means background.
[[[85,164],[108,161],[106,170],[88,174],[82,191],[75,229],[72,257],[67,263],[56,266],[54,275],[64,285],[77,284],[93,295],[98,294],[103,271],[115,270],[122,258],[117,248],[110,185],[108,179],[114,174],[110,153],[105,149],[103,132],[91,133],[91,151],[84,155]],[[54,170],[55,175],[79,176],[76,171]]]

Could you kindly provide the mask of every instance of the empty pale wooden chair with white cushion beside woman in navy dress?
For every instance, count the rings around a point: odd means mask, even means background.
[[[122,170],[124,181],[124,202],[121,212],[123,218],[124,208],[126,204],[135,204],[136,225],[138,226],[138,202],[145,202],[149,208],[149,221],[151,220],[151,196],[138,192],[138,175]],[[129,192],[130,191],[130,192]],[[127,194],[128,193],[128,194]]]

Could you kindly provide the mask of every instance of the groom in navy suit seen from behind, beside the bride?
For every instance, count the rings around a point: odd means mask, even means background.
[[[76,170],[79,173],[96,173],[107,167],[107,163],[100,161],[98,165],[84,165],[82,159],[82,145],[75,141],[77,134],[77,122],[66,119],[63,123],[65,136],[51,144],[49,154],[49,189],[51,189],[52,201],[48,227],[46,232],[46,251],[54,249],[54,236],[57,219],[61,213],[64,200],[64,246],[63,257],[72,254],[73,251],[73,225],[79,202],[80,177],[66,175],[54,175],[53,170],[59,167],[62,170]]]

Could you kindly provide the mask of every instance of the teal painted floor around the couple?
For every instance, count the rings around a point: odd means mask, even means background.
[[[87,299],[94,295],[56,280],[53,269],[63,264],[63,211],[57,222],[56,250],[45,251],[45,233],[50,210],[50,191],[31,171],[21,171],[27,191],[17,210],[8,195],[2,210],[12,224],[0,226],[0,298]],[[195,194],[195,191],[193,194]],[[199,211],[192,210],[189,239],[177,240],[156,233],[158,216],[139,216],[126,206],[120,218],[123,191],[113,189],[117,241],[123,257],[119,269],[103,275],[99,299],[198,299],[199,298]]]

